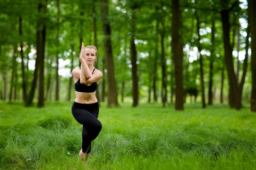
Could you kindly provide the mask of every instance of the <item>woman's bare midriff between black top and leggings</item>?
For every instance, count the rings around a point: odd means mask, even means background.
[[[93,93],[84,93],[76,91],[76,99],[75,102],[81,104],[92,104],[98,102],[96,98],[96,92]]]

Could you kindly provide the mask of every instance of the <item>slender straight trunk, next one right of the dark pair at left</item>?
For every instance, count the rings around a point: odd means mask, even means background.
[[[59,46],[59,30],[60,30],[60,0],[57,0],[57,8],[58,8],[58,13],[57,13],[57,33],[56,33],[56,67],[55,67],[55,80],[56,80],[56,86],[55,86],[55,100],[58,101],[59,100],[59,89],[60,89],[60,85],[59,85],[59,75],[58,75],[58,46]]]

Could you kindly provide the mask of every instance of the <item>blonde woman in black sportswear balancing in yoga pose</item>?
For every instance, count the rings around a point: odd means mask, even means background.
[[[83,125],[82,148],[79,156],[84,161],[87,161],[89,157],[91,142],[96,139],[102,129],[102,124],[97,119],[99,104],[95,95],[99,80],[102,78],[102,72],[93,67],[96,58],[96,47],[92,45],[84,47],[84,43],[82,43],[79,54],[81,67],[72,71],[76,91],[72,114],[76,121]]]

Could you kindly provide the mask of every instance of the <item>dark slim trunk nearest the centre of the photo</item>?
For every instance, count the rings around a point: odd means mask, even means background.
[[[135,9],[136,6],[133,5],[132,7],[132,14],[131,14],[131,71],[132,71],[132,89],[133,89],[133,107],[136,107],[138,105],[138,97],[139,97],[139,91],[138,91],[138,76],[137,76],[137,52],[136,47],[134,43],[135,39]]]

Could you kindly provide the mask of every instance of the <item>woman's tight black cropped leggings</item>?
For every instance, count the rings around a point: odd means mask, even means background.
[[[81,104],[74,102],[72,105],[72,114],[77,122],[83,125],[82,131],[82,151],[90,153],[91,141],[96,139],[102,129],[102,124],[99,122],[99,104]]]

